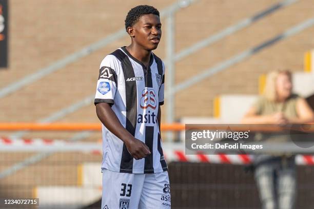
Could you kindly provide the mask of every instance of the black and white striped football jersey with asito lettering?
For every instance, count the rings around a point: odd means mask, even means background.
[[[157,122],[159,105],[164,102],[164,77],[164,64],[153,53],[147,68],[125,47],[103,59],[94,102],[110,103],[121,124],[151,154],[135,160],[123,141],[103,125],[102,169],[133,174],[167,171]]]

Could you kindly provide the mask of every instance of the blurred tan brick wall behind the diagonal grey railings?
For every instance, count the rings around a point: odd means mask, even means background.
[[[176,52],[276,2],[211,0],[199,1],[182,9],[175,15]],[[0,71],[0,88],[121,29],[129,8],[136,4],[149,3],[10,1],[10,67]],[[170,3],[159,1],[155,6],[162,9]],[[193,75],[301,23],[311,17],[313,11],[314,6],[310,0],[299,1],[190,55],[176,63],[175,83],[188,80]],[[167,33],[164,19],[163,23],[164,36],[156,51],[161,57],[165,56]],[[257,93],[257,81],[261,73],[278,68],[301,71],[303,53],[314,47],[312,32],[312,28],[307,29],[280,41],[240,64],[179,92],[175,96],[176,118],[212,116],[212,100],[218,94]],[[108,47],[0,99],[0,109],[5,110],[0,115],[0,121],[35,121],[93,94],[101,59],[115,48],[128,43],[128,37],[115,41]],[[200,108],[195,109],[191,104]],[[97,118],[94,107],[90,106],[62,121],[96,122]]]

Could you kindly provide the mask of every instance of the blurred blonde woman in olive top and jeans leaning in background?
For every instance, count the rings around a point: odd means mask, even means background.
[[[264,95],[248,110],[241,122],[284,126],[313,120],[314,113],[306,100],[292,94],[291,73],[279,70],[268,74]],[[282,137],[287,136],[281,136],[280,140]],[[294,208],[297,190],[295,156],[258,155],[254,166],[263,208]]]

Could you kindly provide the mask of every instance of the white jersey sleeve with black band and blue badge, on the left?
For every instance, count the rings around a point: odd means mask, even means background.
[[[107,55],[100,65],[94,104],[114,104],[117,89],[117,69],[119,64],[113,55]]]

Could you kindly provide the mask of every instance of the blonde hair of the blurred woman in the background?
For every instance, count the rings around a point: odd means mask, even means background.
[[[276,101],[277,99],[276,80],[278,76],[281,74],[287,75],[291,80],[291,72],[289,70],[276,70],[276,71],[271,71],[270,73],[267,74],[265,89],[264,89],[263,94],[267,99],[271,101]]]

